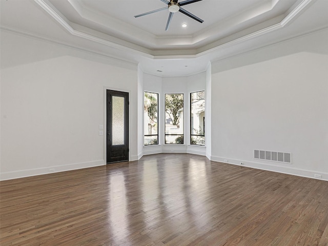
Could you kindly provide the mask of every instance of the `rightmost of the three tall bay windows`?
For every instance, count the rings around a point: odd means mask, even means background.
[[[205,91],[190,93],[190,144],[205,145]]]

